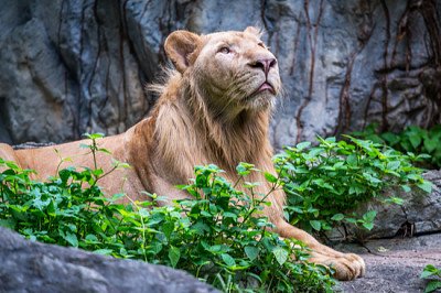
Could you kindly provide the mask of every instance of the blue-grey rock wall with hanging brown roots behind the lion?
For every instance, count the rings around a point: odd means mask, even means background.
[[[148,116],[144,91],[176,29],[258,24],[284,100],[273,145],[441,122],[441,0],[0,0],[0,141],[115,134]]]

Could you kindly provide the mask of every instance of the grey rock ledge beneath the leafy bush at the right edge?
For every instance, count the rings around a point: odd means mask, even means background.
[[[418,187],[413,187],[409,193],[400,187],[387,188],[383,195],[384,199],[394,196],[405,199],[405,203],[402,205],[377,202],[362,204],[356,210],[359,215],[372,209],[377,210],[374,219],[375,226],[370,231],[364,231],[364,237],[388,238],[397,235],[402,237],[441,232],[441,170],[427,172],[423,177],[433,183],[431,194]],[[347,235],[361,232],[355,228],[346,228],[346,230]],[[344,229],[340,228],[338,231],[334,230],[330,237],[335,239],[345,235]]]

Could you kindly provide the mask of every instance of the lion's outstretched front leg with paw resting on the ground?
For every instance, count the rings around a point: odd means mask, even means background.
[[[330,247],[320,243],[314,237],[308,232],[295,228],[288,224],[283,218],[279,217],[275,220],[278,232],[283,238],[294,238],[308,243],[308,248],[314,250],[310,262],[330,264],[332,263],[336,270],[335,278],[338,280],[354,280],[365,273],[364,260],[354,253],[342,253]]]

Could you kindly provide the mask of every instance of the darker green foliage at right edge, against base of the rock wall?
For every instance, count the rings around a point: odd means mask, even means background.
[[[423,162],[433,169],[441,167],[441,124],[430,130],[408,126],[399,134],[391,132],[377,134],[377,127],[378,123],[372,123],[364,131],[354,132],[353,135],[407,152],[416,162]]]

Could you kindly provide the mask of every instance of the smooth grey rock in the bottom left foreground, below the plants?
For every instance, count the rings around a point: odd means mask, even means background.
[[[23,239],[0,227],[0,292],[218,292],[189,273]]]

